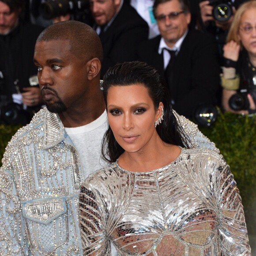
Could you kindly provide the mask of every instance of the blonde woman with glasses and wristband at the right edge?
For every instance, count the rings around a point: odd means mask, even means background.
[[[242,4],[233,18],[224,50],[222,106],[256,113],[256,1]]]

